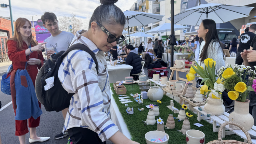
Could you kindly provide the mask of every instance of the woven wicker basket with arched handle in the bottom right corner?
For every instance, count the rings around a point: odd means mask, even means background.
[[[247,137],[247,140],[248,140],[248,144],[252,144],[251,136],[248,133],[248,131],[245,130],[243,126],[241,126],[241,125],[239,125],[239,124],[237,124],[233,121],[226,121],[225,123],[223,123],[221,125],[221,127],[219,127],[218,140],[211,141],[207,144],[247,144],[245,142],[239,142],[239,141],[236,141],[236,140],[222,140],[221,139],[222,130],[226,125],[234,125],[234,126],[239,127],[245,133],[245,135]]]

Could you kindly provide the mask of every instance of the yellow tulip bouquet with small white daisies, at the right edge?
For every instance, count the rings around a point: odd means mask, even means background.
[[[245,102],[246,97],[254,89],[251,87],[255,79],[256,72],[250,66],[241,66],[235,64],[234,68],[231,65],[221,67],[218,70],[217,83],[222,83],[228,92],[228,97],[231,100]],[[251,76],[251,79],[248,76]],[[246,83],[248,86],[246,86]]]

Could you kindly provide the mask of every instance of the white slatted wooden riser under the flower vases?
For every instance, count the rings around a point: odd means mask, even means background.
[[[200,106],[201,108],[204,108],[204,106]],[[213,121],[213,132],[218,132],[219,128],[217,128],[217,123],[219,125],[222,125],[223,123],[225,123],[228,120],[229,117],[229,113],[224,112],[223,115],[220,116],[210,116],[207,117],[207,113],[205,111],[199,111],[198,110],[198,106],[194,107],[194,109],[197,111],[197,120],[201,121],[201,119],[206,119],[206,118],[210,118]],[[204,116],[201,116],[201,114],[203,114]],[[226,131],[228,130],[228,131]],[[253,126],[251,130],[248,130],[248,133],[250,133],[251,135],[256,135],[256,126]],[[247,138],[244,134],[244,132],[242,130],[230,130],[229,125],[225,126],[222,130],[222,138],[225,138],[225,135],[230,135],[230,134],[237,134],[239,136],[241,136],[244,139],[244,142],[247,142]],[[256,144],[256,140],[252,140],[253,144]]]

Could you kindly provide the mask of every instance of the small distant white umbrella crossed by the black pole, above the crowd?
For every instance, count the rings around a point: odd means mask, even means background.
[[[176,30],[182,30],[182,29],[186,29],[189,27],[185,27],[185,26],[180,26],[180,25],[174,25],[174,31]],[[160,32],[167,32],[167,31],[171,31],[171,24],[170,23],[164,23],[160,26],[157,26],[151,30],[146,31],[146,33],[160,33]]]

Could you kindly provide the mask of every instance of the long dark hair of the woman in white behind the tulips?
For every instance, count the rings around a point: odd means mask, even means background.
[[[205,35],[205,45],[203,46],[203,49],[200,55],[201,62],[203,62],[205,59],[208,58],[207,52],[210,44],[212,44],[212,47],[213,47],[213,43],[218,42],[219,48],[221,48],[221,42],[219,41],[219,38],[218,38],[215,21],[212,19],[204,19],[202,23],[203,23],[204,29],[208,29],[208,32]]]

